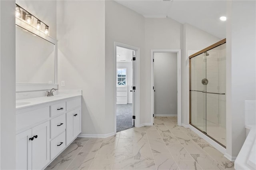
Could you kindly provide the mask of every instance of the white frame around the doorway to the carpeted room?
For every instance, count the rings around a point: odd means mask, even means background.
[[[114,132],[116,133],[116,47],[124,47],[127,49],[131,49],[135,51],[136,56],[136,62],[135,62],[135,68],[132,67],[132,71],[134,69],[136,70],[136,73],[134,74],[134,85],[136,86],[136,95],[134,96],[134,103],[132,105],[134,106],[134,116],[136,119],[134,120],[134,127],[140,127],[140,48],[134,47],[132,45],[127,45],[120,42],[114,42]],[[134,93],[132,94],[134,95]],[[131,118],[132,119],[132,118]]]

